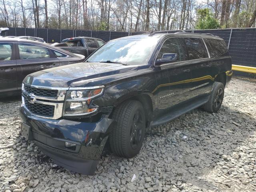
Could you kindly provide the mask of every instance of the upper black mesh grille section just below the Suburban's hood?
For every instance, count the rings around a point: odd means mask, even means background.
[[[34,88],[27,84],[24,84],[24,90],[28,93],[32,93],[32,94],[34,94],[36,96],[40,96],[40,97],[56,98],[58,95],[58,90]]]

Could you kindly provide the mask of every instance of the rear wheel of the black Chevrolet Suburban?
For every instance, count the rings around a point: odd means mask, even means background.
[[[214,82],[210,98],[206,104],[203,105],[205,111],[216,113],[221,107],[224,98],[224,85],[220,82]]]

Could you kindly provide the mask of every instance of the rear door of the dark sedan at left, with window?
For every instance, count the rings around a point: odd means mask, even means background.
[[[17,43],[16,50],[18,50],[18,89],[21,88],[22,81],[28,74],[60,65],[58,58],[46,46],[32,43]]]

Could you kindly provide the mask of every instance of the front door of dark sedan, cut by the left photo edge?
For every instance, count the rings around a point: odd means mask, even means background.
[[[0,94],[17,90],[15,46],[10,42],[0,43]]]

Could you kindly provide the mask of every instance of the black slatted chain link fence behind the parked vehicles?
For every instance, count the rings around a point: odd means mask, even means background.
[[[160,31],[157,33],[175,33],[180,30]],[[224,39],[232,63],[242,66],[256,67],[256,28],[234,28],[214,30],[185,30],[192,33],[210,33]],[[143,34],[145,32],[116,32],[97,30],[66,30],[66,29],[43,29],[43,28],[9,28],[3,36],[35,36],[43,38],[47,43],[61,42],[65,38],[87,36],[100,38],[105,42],[130,35]],[[256,78],[256,74],[235,72],[237,75]]]

